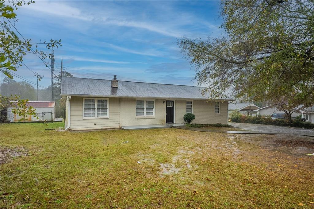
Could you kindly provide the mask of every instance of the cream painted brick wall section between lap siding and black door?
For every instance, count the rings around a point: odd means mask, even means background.
[[[121,98],[120,126],[164,124],[166,122],[166,105],[164,99],[155,100],[155,116],[136,118],[134,98]]]

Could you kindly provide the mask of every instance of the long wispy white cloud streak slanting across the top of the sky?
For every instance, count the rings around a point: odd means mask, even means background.
[[[193,36],[195,32],[190,29],[182,29],[181,26],[187,24],[201,24],[204,27],[208,27],[211,30],[217,29],[216,25],[210,24],[207,21],[197,19],[191,14],[177,15],[176,20],[169,21],[167,18],[173,18],[171,12],[169,17],[165,15],[162,21],[150,21],[134,19],[125,14],[121,14],[119,9],[107,9],[106,11],[97,11],[90,13],[88,10],[74,7],[70,4],[63,2],[36,2],[35,4],[30,4],[26,9],[30,9],[36,12],[41,12],[45,14],[50,14],[54,16],[74,18],[84,21],[93,22],[95,24],[103,25],[113,25],[113,26],[123,26],[123,27],[133,27],[143,30],[149,30],[155,33],[159,33],[165,36],[171,36],[175,38],[180,38],[182,36]],[[95,9],[95,8],[93,8]],[[168,11],[169,12],[169,11]],[[175,13],[175,11],[172,11]],[[168,14],[169,15],[169,14]],[[183,27],[184,28],[184,27]],[[201,35],[201,34],[198,34]]]

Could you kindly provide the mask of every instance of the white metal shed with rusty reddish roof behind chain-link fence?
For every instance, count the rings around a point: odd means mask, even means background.
[[[27,105],[30,107],[34,107],[36,110],[36,114],[38,118],[34,116],[27,116],[25,118],[25,122],[31,122],[31,121],[51,121],[55,119],[55,113],[56,113],[56,103],[50,102],[50,101],[28,101]],[[12,107],[8,107],[8,120],[10,122],[19,122],[23,116],[19,116],[18,114],[12,113],[12,109],[15,108],[13,105]],[[52,114],[51,114],[52,113]],[[52,115],[52,118],[51,118]]]

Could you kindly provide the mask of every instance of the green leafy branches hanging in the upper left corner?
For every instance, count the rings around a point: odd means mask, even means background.
[[[0,42],[2,48],[0,61],[1,72],[9,78],[13,78],[10,72],[17,71],[17,69],[23,65],[23,58],[28,53],[35,54],[48,66],[49,64],[45,59],[48,58],[49,54],[47,55],[46,52],[38,50],[38,45],[43,44],[46,48],[51,49],[51,47],[61,46],[61,40],[51,39],[49,42],[41,41],[40,43],[31,43],[31,39],[25,39],[15,27],[15,23],[18,21],[18,19],[16,19],[15,10],[22,5],[34,3],[34,1],[9,0],[7,2],[9,5],[5,5],[3,0],[0,2],[1,19],[3,19],[3,21],[0,22]],[[21,38],[19,38],[19,36]]]

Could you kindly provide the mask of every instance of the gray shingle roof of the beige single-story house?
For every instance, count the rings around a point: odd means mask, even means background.
[[[111,80],[62,77],[61,95],[154,97],[208,99],[202,95],[204,87],[118,81],[118,88],[111,88]],[[232,100],[230,98],[221,98]]]

